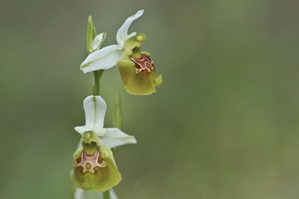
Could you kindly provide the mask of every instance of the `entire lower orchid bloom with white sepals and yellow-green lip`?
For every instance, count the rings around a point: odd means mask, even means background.
[[[118,128],[103,128],[106,102],[100,96],[88,96],[83,107],[86,125],[75,127],[83,148],[74,153],[72,181],[79,189],[102,192],[121,181],[111,148],[137,142]]]

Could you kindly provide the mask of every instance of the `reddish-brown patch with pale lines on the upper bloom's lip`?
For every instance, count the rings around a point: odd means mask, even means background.
[[[149,58],[149,56],[144,55],[141,53],[141,58],[137,59],[133,55],[130,56],[130,59],[134,62],[135,64],[135,73],[138,74],[140,72],[151,72],[152,70],[155,70],[154,63],[152,60]]]

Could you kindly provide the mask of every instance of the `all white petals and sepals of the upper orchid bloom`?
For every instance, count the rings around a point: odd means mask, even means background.
[[[116,41],[118,44],[104,47],[89,54],[85,61],[83,61],[83,63],[81,64],[80,69],[83,70],[84,73],[86,73],[94,70],[109,69],[115,66],[117,64],[117,61],[120,59],[120,56],[124,52],[125,41],[136,35],[136,32],[128,35],[128,29],[130,25],[142,14],[143,10],[139,10],[135,15],[127,18],[120,29],[118,29],[117,31]]]

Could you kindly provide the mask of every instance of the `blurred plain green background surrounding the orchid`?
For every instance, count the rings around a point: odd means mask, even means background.
[[[129,95],[106,70],[112,127],[120,92],[120,199],[299,198],[297,0],[0,1],[0,198],[70,198],[73,153],[91,95],[89,15],[104,46],[124,20],[145,33],[163,84]]]

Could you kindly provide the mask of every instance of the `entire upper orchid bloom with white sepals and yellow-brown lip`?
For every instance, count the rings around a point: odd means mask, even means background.
[[[80,66],[84,73],[118,66],[120,77],[126,91],[134,95],[149,95],[155,86],[162,84],[161,74],[157,77],[155,66],[149,53],[140,52],[141,41],[148,41],[140,33],[128,34],[132,22],[143,14],[139,10],[126,19],[116,34],[118,44],[104,47],[88,55]]]

